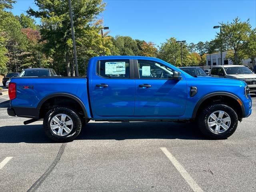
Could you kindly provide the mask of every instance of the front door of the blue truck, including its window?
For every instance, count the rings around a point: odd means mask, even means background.
[[[137,60],[137,64],[134,116],[182,116],[186,107],[186,80],[173,80],[174,70],[168,64],[144,59]]]

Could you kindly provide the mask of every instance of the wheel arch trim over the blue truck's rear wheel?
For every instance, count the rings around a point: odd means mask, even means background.
[[[87,113],[87,110],[86,110],[86,107],[84,106],[83,102],[76,96],[72,95],[72,94],[68,94],[68,93],[54,93],[54,94],[50,94],[48,96],[45,96],[37,105],[36,108],[38,108],[38,118],[40,118],[40,109],[41,107],[43,106],[43,104],[45,102],[47,102],[48,100],[52,99],[52,98],[57,98],[57,97],[66,97],[66,98],[70,98],[70,99],[73,99],[74,101],[76,101],[80,107],[82,108],[83,110],[83,113],[84,113],[84,116],[86,119],[88,119],[88,113]]]

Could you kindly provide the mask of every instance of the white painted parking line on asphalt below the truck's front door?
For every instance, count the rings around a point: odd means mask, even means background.
[[[172,156],[172,154],[166,149],[166,147],[160,147],[162,152],[168,157],[168,159],[172,162],[174,167],[180,172],[181,176],[186,180],[189,186],[192,188],[194,192],[203,192],[203,190],[198,186],[195,180],[188,174],[188,172],[184,169],[184,167]]]

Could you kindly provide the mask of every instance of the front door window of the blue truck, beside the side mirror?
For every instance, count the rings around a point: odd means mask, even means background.
[[[151,60],[138,60],[140,78],[169,79],[173,77],[171,68]]]

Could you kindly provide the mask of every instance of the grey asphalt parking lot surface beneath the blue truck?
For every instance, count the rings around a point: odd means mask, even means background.
[[[42,121],[8,116],[0,96],[0,191],[256,191],[253,112],[227,140],[192,124],[89,122],[76,140],[53,143]]]

